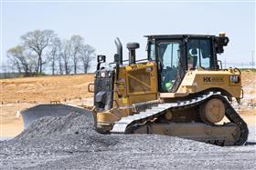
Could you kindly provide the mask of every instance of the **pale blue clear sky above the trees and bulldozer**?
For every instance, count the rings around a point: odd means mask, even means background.
[[[54,30],[61,39],[81,35],[86,44],[96,48],[97,55],[107,55],[108,61],[116,53],[116,36],[123,43],[124,58],[128,56],[129,42],[138,42],[141,47],[137,56],[145,58],[144,35],[225,32],[229,45],[219,59],[245,65],[255,53],[255,2],[2,1],[2,65],[6,62],[6,51],[21,42],[20,36],[36,29]]]

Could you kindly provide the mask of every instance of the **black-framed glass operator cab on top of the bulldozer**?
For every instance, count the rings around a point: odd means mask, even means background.
[[[187,71],[219,70],[217,54],[229,38],[219,35],[146,35],[148,60],[157,63],[159,92],[176,92]]]

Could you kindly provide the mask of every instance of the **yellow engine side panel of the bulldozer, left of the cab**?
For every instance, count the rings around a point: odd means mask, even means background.
[[[153,63],[126,65],[120,68],[114,85],[114,106],[123,107],[157,98],[157,67]],[[130,110],[123,111],[126,115]]]

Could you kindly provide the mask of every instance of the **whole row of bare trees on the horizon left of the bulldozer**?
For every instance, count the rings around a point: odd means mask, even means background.
[[[21,43],[7,51],[13,70],[25,76],[88,73],[95,48],[84,44],[80,35],[61,40],[53,30],[35,30],[20,37]]]

